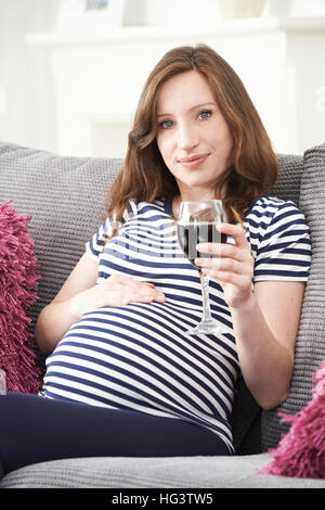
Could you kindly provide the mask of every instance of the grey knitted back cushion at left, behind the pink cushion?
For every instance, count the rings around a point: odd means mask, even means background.
[[[104,195],[120,165],[121,160],[58,156],[0,142],[0,203],[12,200],[18,213],[31,216],[41,265],[32,327],[99,227]]]

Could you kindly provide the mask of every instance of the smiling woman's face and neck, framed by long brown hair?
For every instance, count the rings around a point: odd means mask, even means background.
[[[182,200],[216,199],[231,166],[233,139],[206,78],[188,71],[170,78],[158,95],[157,144]]]

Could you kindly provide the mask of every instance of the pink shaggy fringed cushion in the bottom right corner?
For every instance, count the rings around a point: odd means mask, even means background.
[[[325,479],[325,360],[316,370],[313,396],[296,416],[281,415],[291,423],[277,448],[274,460],[261,473],[303,479]]]

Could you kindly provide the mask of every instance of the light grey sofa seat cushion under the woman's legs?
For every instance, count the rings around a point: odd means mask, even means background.
[[[239,457],[96,457],[53,460],[9,473],[0,482],[0,488],[325,487],[324,480],[260,474],[259,470],[270,459],[269,454],[259,454]],[[214,501],[217,497],[219,495]]]

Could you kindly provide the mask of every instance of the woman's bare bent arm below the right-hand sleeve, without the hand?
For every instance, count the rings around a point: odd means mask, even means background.
[[[231,308],[243,377],[264,409],[289,394],[304,282],[265,281]]]

